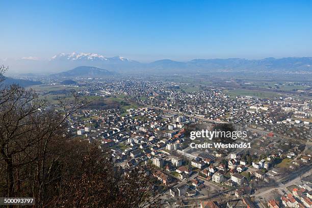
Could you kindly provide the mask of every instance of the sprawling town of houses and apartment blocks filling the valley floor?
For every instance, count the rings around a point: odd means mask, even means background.
[[[116,166],[151,167],[167,207],[312,207],[312,100],[230,96],[224,88],[131,77],[41,80],[62,111],[72,93],[92,100],[67,119],[73,137],[109,148]],[[248,148],[192,148],[189,128],[231,124]],[[194,146],[194,145],[193,145]],[[246,147],[246,146],[245,146]]]

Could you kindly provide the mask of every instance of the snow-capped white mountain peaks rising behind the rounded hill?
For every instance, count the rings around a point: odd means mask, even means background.
[[[124,62],[132,62],[130,59],[126,59],[123,57],[112,57],[107,58],[99,54],[92,53],[71,53],[71,54],[58,54],[49,59],[50,61],[124,61]]]

